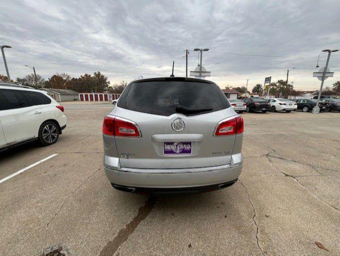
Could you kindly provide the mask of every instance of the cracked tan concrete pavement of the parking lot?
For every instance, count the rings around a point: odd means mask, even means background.
[[[0,184],[0,255],[340,255],[340,113],[244,113],[235,185],[150,198],[105,177],[112,105],[63,105],[56,144],[0,153],[0,179],[57,154]]]

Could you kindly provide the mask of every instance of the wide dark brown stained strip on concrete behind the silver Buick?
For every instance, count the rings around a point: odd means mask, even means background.
[[[102,251],[100,252],[100,256],[106,255],[114,255],[118,250],[120,245],[122,245],[126,240],[128,240],[129,236],[135,231],[137,226],[141,221],[143,221],[146,217],[148,217],[149,213],[152,211],[156,204],[156,197],[150,196],[145,204],[138,209],[137,215],[130,221],[126,226],[119,230],[117,236],[112,241],[107,242]]]

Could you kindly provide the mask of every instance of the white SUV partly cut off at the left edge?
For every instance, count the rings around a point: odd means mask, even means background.
[[[55,143],[66,127],[63,112],[46,92],[0,83],[0,151],[32,140],[43,146]]]

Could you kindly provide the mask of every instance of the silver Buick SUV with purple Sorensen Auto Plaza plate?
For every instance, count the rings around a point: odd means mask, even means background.
[[[126,192],[217,190],[237,181],[242,140],[243,118],[215,83],[136,80],[104,118],[105,173]]]

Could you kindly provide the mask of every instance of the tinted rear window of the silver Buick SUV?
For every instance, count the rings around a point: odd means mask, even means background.
[[[129,84],[118,107],[156,115],[203,114],[230,107],[221,89],[211,83],[188,81],[148,81]],[[184,109],[184,110],[183,110]],[[184,113],[185,114],[185,113]]]

